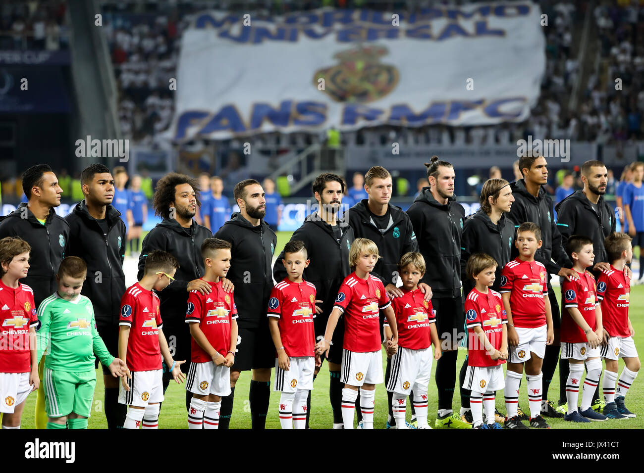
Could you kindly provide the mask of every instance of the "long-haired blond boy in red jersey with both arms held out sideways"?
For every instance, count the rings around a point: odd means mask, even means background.
[[[383,282],[371,275],[379,258],[378,247],[366,238],[356,238],[349,251],[349,264],[355,268],[345,278],[337,293],[325,336],[316,344],[316,353],[328,355],[337,320],[345,316],[345,339],[342,352],[342,418],[345,429],[354,428],[355,400],[360,389],[363,428],[374,428],[375,385],[383,382],[383,358],[380,340],[380,311],[389,322],[392,339],[385,341],[391,355],[398,349],[398,328],[391,301]]]

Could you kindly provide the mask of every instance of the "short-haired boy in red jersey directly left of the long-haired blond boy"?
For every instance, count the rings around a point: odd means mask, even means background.
[[[274,390],[281,391],[279,423],[282,429],[305,429],[313,372],[322,364],[314,348],[316,286],[302,279],[309,263],[302,241],[289,241],[284,246],[282,261],[287,277],[270,291],[268,310],[270,335],[277,353]]]

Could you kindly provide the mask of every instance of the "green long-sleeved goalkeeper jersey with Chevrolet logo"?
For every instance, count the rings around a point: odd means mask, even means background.
[[[79,373],[94,369],[94,355],[105,366],[113,362],[114,357],[96,329],[94,308],[88,297],[79,294],[75,300],[66,301],[55,292],[41,302],[38,319],[38,360],[47,355],[46,367]]]

